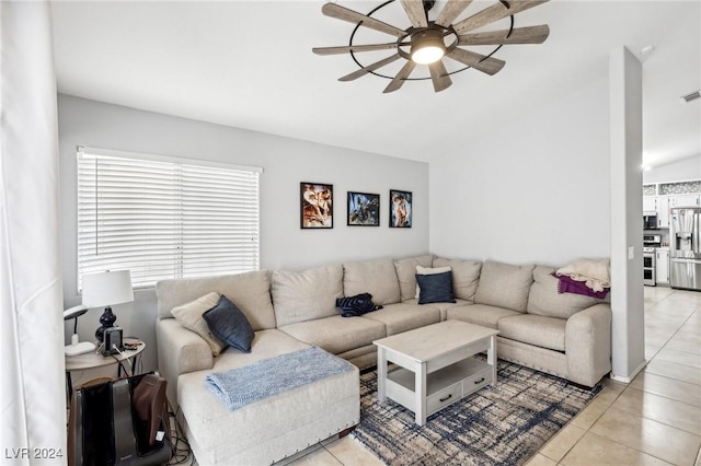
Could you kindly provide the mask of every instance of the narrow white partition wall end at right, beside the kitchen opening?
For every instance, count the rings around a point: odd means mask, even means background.
[[[629,383],[645,364],[643,301],[643,79],[625,47],[609,57],[611,125],[611,376]],[[631,249],[633,254],[631,254]]]

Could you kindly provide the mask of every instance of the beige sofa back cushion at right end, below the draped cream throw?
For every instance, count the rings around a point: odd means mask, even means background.
[[[528,295],[529,314],[570,318],[579,311],[602,302],[583,294],[558,292],[560,280],[551,275],[553,271],[554,268],[544,266],[538,266],[533,270],[533,284]]]

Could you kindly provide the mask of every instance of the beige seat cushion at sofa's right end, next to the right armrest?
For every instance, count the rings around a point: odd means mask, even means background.
[[[566,323],[567,321],[564,318],[521,314],[501,318],[497,329],[499,337],[555,351],[564,351]]]

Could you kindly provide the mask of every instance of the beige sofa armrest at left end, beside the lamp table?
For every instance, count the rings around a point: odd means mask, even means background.
[[[168,381],[168,399],[177,406],[177,377],[214,366],[211,348],[199,335],[183,327],[174,318],[156,322],[158,370]]]

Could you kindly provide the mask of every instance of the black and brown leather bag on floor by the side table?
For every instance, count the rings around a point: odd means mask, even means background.
[[[68,424],[69,465],[160,465],[171,458],[165,380],[135,375],[79,388]]]

